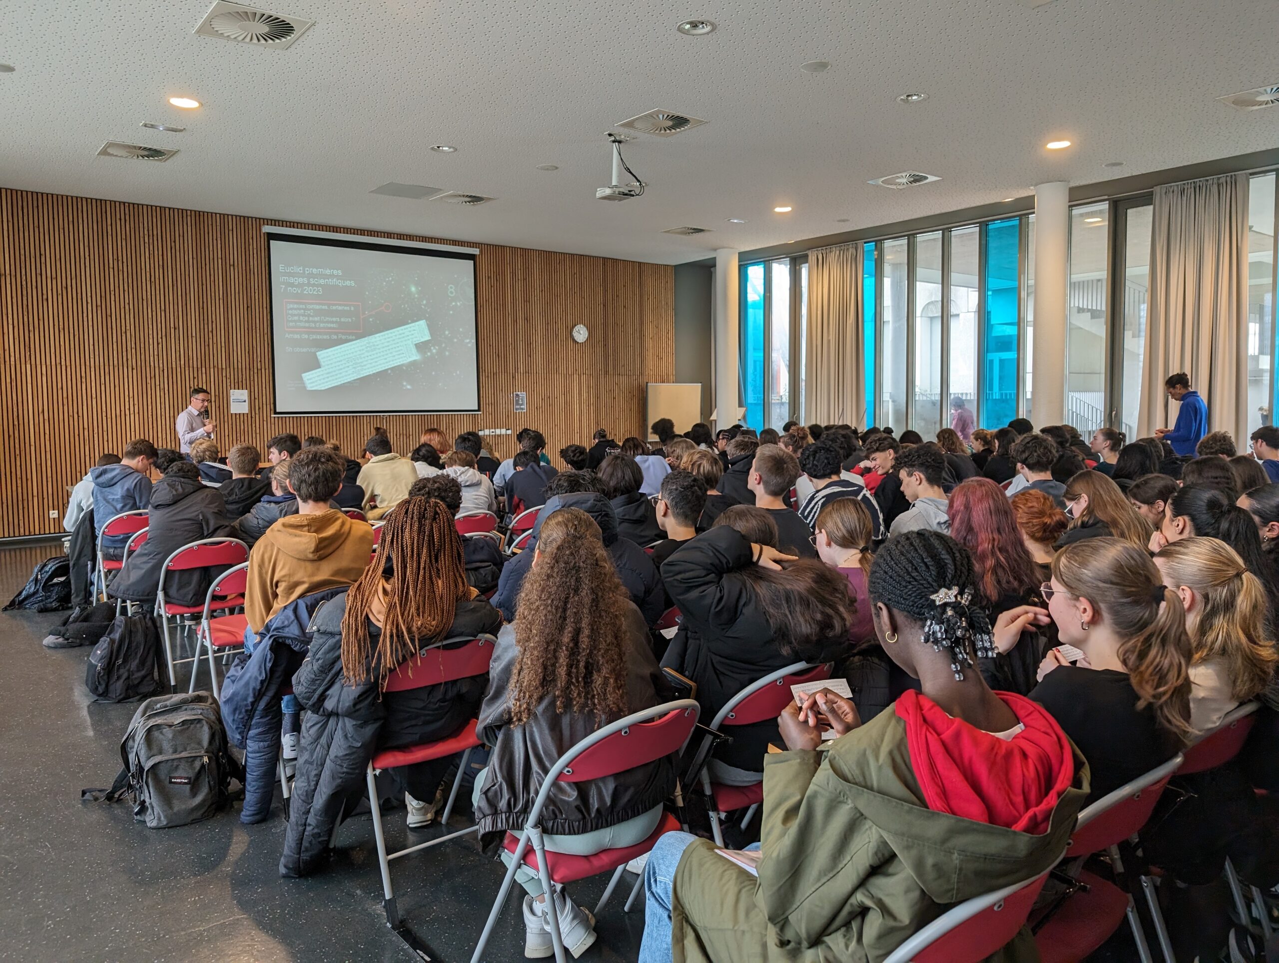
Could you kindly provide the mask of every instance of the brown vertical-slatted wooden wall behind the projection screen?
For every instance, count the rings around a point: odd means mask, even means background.
[[[384,425],[407,453],[431,425],[450,437],[531,425],[554,458],[597,427],[641,435],[646,382],[674,376],[669,266],[480,244],[481,414],[272,417],[263,224],[345,230],[0,189],[0,537],[60,532],[67,486],[104,451],[175,446],[192,385],[214,394],[224,450],[293,431],[358,453]],[[248,414],[229,413],[233,388],[248,389]],[[490,441],[514,451],[513,435]]]

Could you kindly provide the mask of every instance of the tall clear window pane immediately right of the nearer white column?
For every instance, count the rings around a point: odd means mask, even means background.
[[[1085,437],[1106,425],[1109,205],[1071,210],[1065,298],[1065,419]]]

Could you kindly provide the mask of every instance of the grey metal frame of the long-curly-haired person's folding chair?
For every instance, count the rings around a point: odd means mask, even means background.
[[[471,957],[471,963],[480,963],[483,957],[483,950],[489,945],[489,937],[492,935],[498,917],[501,914],[501,909],[506,904],[506,896],[510,895],[510,888],[515,881],[515,872],[524,865],[524,854],[528,852],[530,845],[532,845],[533,852],[537,856],[537,872],[542,882],[542,890],[547,894],[546,899],[553,900],[551,894],[555,891],[555,880],[551,876],[550,865],[546,859],[546,844],[538,821],[541,820],[542,807],[550,797],[551,788],[561,779],[561,776],[573,775],[573,762],[576,762],[583,753],[602,743],[605,739],[610,739],[615,735],[629,735],[632,726],[645,724],[687,724],[687,733],[677,749],[677,752],[682,753],[688,747],[688,742],[693,735],[694,728],[697,726],[697,716],[700,711],[701,710],[694,700],[682,698],[675,700],[674,702],[664,702],[660,706],[645,709],[640,712],[632,712],[625,719],[610,723],[609,725],[586,737],[555,761],[555,765],[550,767],[550,771],[547,771],[546,776],[542,779],[537,797],[533,801],[533,807],[530,810],[528,817],[524,820],[524,829],[521,830],[518,836],[519,844],[512,854],[510,866],[506,868],[506,875],[501,881],[501,889],[498,891],[498,899],[494,900],[492,909],[489,913],[489,920],[485,922],[483,932],[480,935],[480,941],[476,944],[475,953]],[[657,756],[656,758],[661,758],[661,756]],[[651,758],[645,758],[643,761],[633,765],[642,766],[648,765],[648,762],[652,761],[654,760]],[[611,775],[624,772],[627,769],[631,769],[631,766],[616,769],[611,772]],[[632,847],[625,848],[631,849]],[[629,859],[627,862],[629,862]],[[604,895],[595,907],[596,914],[604,909],[604,904],[608,902],[609,896],[613,895],[613,890],[616,888],[618,880],[622,877],[625,868],[627,863],[623,862],[614,870],[613,877],[609,880],[608,889],[604,890]],[[634,900],[636,893],[642,882],[643,873],[641,873],[637,879],[634,889],[631,891],[631,898],[627,900],[627,905]],[[555,951],[555,960],[556,963],[567,963],[564,939],[559,930],[559,914],[554,912],[554,900],[550,903],[550,908],[553,912],[549,912],[546,918],[550,921],[551,944]]]

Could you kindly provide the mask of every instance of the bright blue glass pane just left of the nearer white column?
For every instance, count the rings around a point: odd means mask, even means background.
[[[981,427],[1001,428],[1017,417],[1017,284],[1021,221],[986,229],[986,290],[982,326]]]

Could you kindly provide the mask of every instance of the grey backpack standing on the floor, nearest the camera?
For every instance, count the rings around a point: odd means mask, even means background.
[[[120,742],[124,769],[110,789],[83,789],[81,799],[128,795],[133,818],[151,829],[206,820],[229,798],[238,767],[226,751],[217,701],[207,692],[148,698]]]

